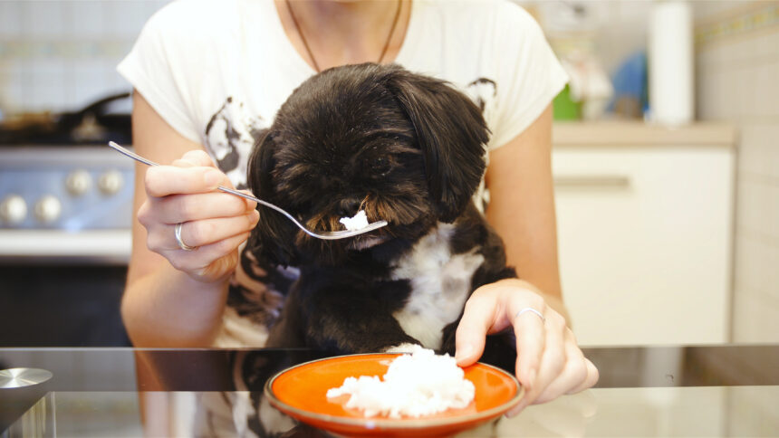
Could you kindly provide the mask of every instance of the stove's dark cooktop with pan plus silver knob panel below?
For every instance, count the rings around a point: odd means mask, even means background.
[[[107,145],[130,144],[129,103],[0,123],[0,263],[129,260],[134,163]]]

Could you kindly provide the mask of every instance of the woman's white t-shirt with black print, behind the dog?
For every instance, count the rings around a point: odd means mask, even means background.
[[[492,131],[489,149],[523,132],[567,81],[533,17],[505,0],[413,0],[394,62],[450,81],[475,100]],[[288,40],[272,0],[172,2],[149,19],[118,70],[239,187],[257,131],[316,73]],[[250,263],[241,265],[217,344],[260,347],[282,298],[256,282],[239,286]],[[263,274],[255,268],[248,276]],[[275,309],[257,317],[263,306]]]

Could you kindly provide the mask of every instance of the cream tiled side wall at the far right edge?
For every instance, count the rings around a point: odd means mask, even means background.
[[[733,340],[779,341],[779,2],[697,2],[697,114],[731,120]]]

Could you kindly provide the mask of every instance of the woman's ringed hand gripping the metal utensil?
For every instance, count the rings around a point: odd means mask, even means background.
[[[197,281],[221,281],[236,269],[238,245],[257,224],[256,204],[216,191],[232,188],[203,150],[193,150],[172,166],[149,167],[144,180],[147,199],[138,212],[148,233],[147,246]],[[182,249],[175,237],[181,225]]]

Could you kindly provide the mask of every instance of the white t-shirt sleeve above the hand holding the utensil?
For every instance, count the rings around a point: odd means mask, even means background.
[[[177,8],[173,2],[149,18],[130,53],[117,71],[137,90],[159,116],[182,136],[200,143],[198,129],[187,105],[188,74],[186,48],[177,29]]]

